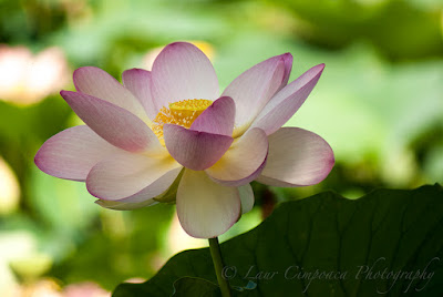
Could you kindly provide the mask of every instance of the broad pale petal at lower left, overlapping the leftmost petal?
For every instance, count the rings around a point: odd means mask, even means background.
[[[143,202],[166,191],[181,168],[167,154],[150,157],[123,152],[92,167],[86,187],[100,199]]]

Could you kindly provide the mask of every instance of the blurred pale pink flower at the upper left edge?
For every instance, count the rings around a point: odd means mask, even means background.
[[[59,48],[33,55],[24,47],[0,45],[0,100],[37,103],[63,88],[68,78],[68,62]]]

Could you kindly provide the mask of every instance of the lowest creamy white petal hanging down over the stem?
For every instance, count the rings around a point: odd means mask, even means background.
[[[177,215],[187,234],[216,237],[237,222],[240,208],[236,187],[214,183],[204,172],[185,170],[177,191]]]

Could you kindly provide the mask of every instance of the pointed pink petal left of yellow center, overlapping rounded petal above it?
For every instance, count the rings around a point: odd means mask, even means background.
[[[161,150],[154,132],[137,116],[107,101],[61,91],[72,110],[109,143],[130,152]]]

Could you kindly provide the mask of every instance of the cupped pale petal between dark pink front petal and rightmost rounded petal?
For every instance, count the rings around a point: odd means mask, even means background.
[[[254,181],[268,154],[268,140],[260,129],[248,130],[206,173],[216,182],[239,186]]]

